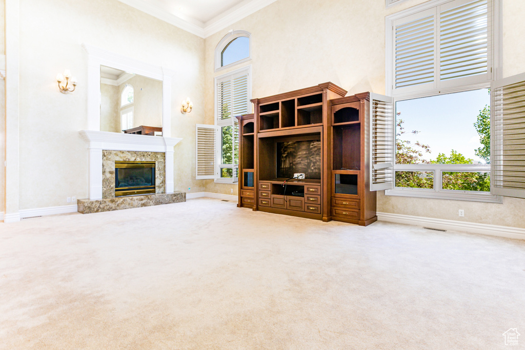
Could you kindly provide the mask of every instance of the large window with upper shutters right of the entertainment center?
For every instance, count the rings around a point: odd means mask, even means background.
[[[387,17],[395,105],[390,195],[500,201],[490,194],[490,83],[499,0],[435,0]]]

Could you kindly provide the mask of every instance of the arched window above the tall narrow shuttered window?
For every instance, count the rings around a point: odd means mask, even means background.
[[[215,48],[215,70],[240,63],[250,58],[250,33],[233,30],[219,41]]]

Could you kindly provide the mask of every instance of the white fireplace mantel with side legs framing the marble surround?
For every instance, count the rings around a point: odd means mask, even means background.
[[[182,139],[81,130],[89,150],[89,199],[102,199],[102,151],[163,152],[166,154],[166,193],[173,193],[173,147]]]

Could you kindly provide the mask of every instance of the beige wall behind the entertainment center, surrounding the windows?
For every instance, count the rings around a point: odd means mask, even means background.
[[[423,3],[411,0],[385,9],[384,1],[279,0],[206,38],[206,115],[213,124],[214,50],[230,29],[251,33],[253,98],[332,81],[354,94],[385,92],[385,16]],[[503,0],[503,72],[525,71],[525,4]],[[241,65],[242,66],[242,65]],[[209,192],[230,194],[236,186],[208,182]],[[505,198],[503,204],[385,196],[377,210],[385,213],[525,227],[525,200]]]

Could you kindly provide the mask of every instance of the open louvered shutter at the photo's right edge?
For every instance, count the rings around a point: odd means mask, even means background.
[[[491,187],[525,198],[525,73],[492,83]]]

